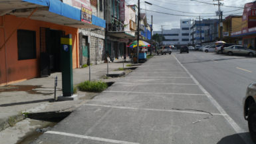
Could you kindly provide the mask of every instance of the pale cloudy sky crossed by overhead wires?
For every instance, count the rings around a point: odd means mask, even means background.
[[[138,0],[125,1],[128,5],[138,5]],[[153,15],[154,31],[161,31],[162,25],[164,30],[180,28],[180,19],[199,20],[199,16],[201,19],[219,19],[219,17],[215,16],[215,11],[218,11],[218,6],[213,5],[213,3],[217,4],[217,2],[213,0],[146,0],[152,3],[152,5],[148,5],[144,1],[145,0],[140,0],[140,9],[142,9],[140,13],[147,14],[148,23],[150,24],[151,15]],[[255,0],[222,0],[221,3],[223,3],[223,6],[221,6],[221,11],[223,11],[223,19],[225,19],[227,15],[243,15],[243,9],[241,8],[244,7],[245,3],[253,1]],[[165,15],[152,11],[184,16]],[[192,17],[188,17],[188,15],[192,15]]]

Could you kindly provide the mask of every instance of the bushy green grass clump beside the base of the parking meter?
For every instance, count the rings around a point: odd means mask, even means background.
[[[78,84],[78,88],[79,90],[85,92],[102,92],[103,90],[106,90],[106,88],[108,88],[108,84],[106,84],[106,82],[101,81],[90,82],[87,80],[85,82]]]

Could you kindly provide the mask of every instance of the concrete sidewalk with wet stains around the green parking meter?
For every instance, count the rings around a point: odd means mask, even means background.
[[[124,63],[126,67],[128,62]],[[109,63],[109,72],[122,68],[122,60]],[[91,66],[91,80],[102,80],[112,82],[118,78],[104,79],[107,65],[98,64]],[[72,111],[85,100],[96,96],[96,93],[78,91],[78,100],[66,102],[49,102],[54,98],[54,81],[58,76],[57,96],[62,95],[61,72],[53,73],[47,78],[33,78],[24,82],[0,87],[0,131],[21,121],[25,117],[22,112],[43,111]],[[78,68],[73,70],[74,85],[89,79],[89,68]]]

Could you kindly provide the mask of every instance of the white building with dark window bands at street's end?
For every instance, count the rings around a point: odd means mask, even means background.
[[[154,31],[154,34],[164,35],[162,44],[186,45],[191,44],[190,36],[191,19],[181,19],[180,29]]]

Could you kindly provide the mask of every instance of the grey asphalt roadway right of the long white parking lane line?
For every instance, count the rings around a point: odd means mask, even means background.
[[[256,58],[190,52],[176,56],[234,121],[248,131],[243,118],[246,88],[256,81]]]

